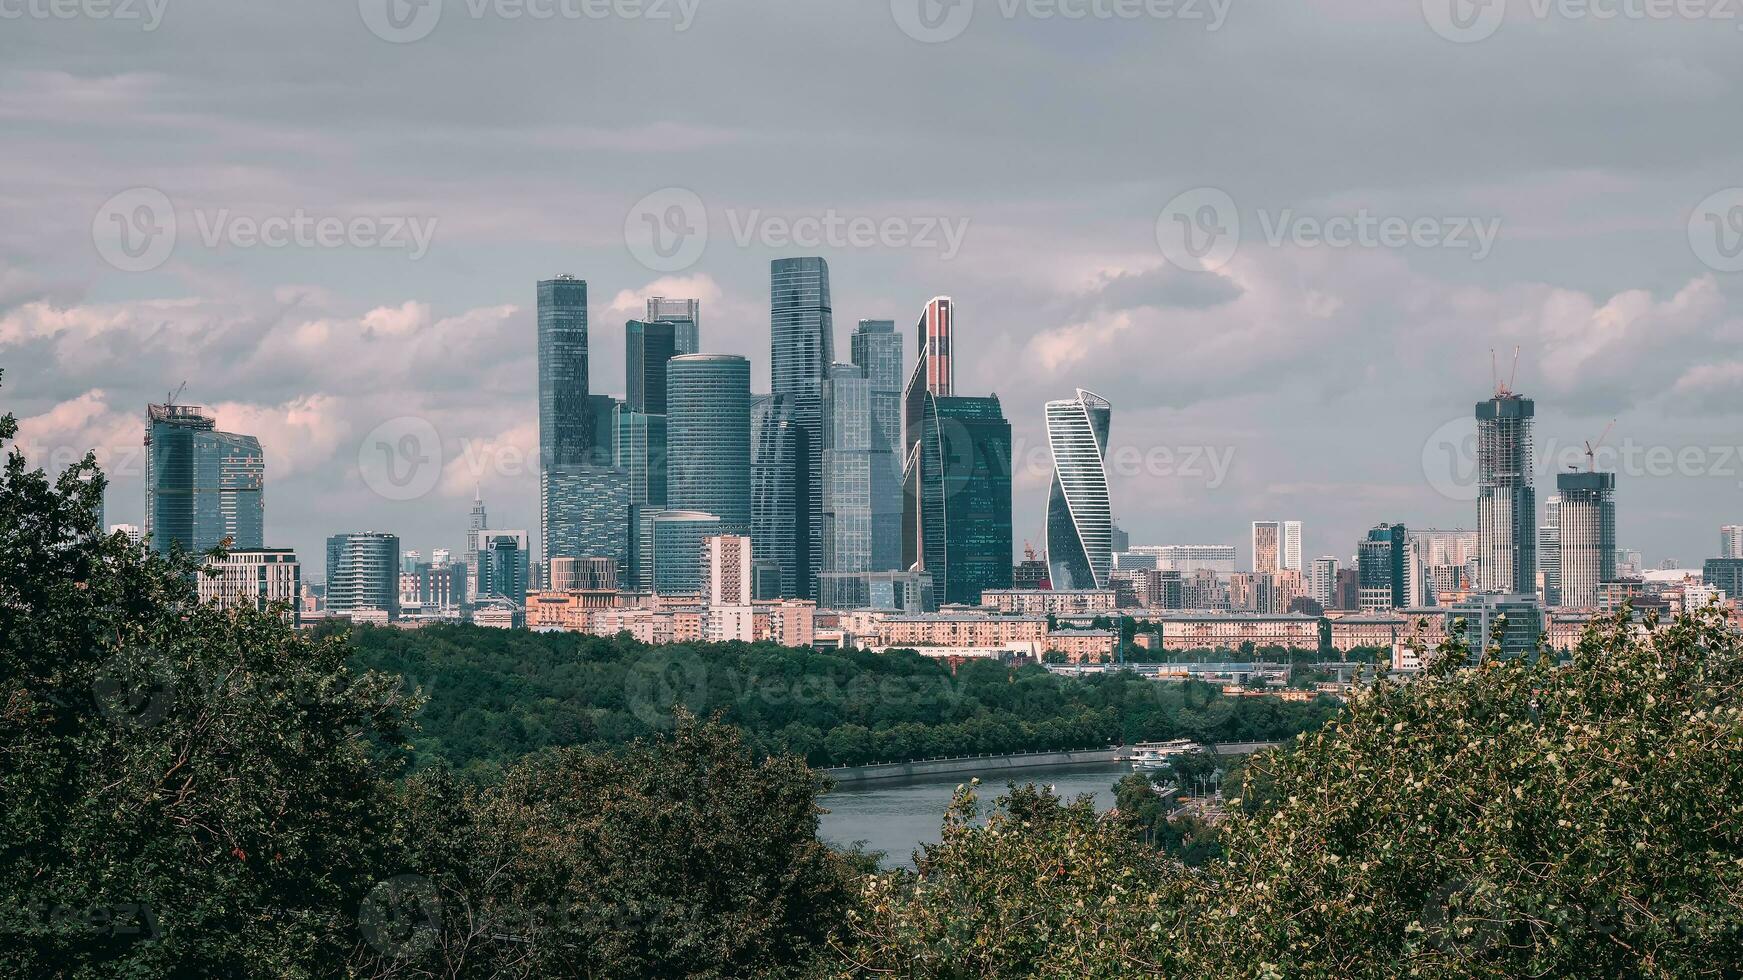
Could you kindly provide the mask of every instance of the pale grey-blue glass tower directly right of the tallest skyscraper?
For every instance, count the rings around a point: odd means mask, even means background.
[[[858,364],[831,366],[823,382],[824,574],[872,570],[875,445],[872,380]]]

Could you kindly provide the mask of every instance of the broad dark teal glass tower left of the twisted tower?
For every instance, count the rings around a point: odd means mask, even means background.
[[[1011,424],[999,398],[926,392],[903,487],[903,560],[939,602],[1011,588]]]

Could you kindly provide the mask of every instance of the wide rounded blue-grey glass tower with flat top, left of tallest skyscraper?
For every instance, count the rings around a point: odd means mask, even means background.
[[[751,530],[751,364],[683,354],[666,366],[666,506]]]

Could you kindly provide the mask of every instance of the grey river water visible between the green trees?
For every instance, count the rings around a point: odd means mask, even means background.
[[[922,842],[936,844],[943,835],[945,811],[957,785],[974,776],[981,778],[983,811],[995,797],[1006,795],[1006,783],[1053,786],[1067,800],[1089,793],[1096,809],[1109,809],[1114,806],[1114,783],[1128,772],[1129,762],[1095,762],[837,786],[823,797],[830,813],[823,814],[819,837],[840,847],[865,840],[868,851],[884,851],[884,867],[912,868],[913,851]]]

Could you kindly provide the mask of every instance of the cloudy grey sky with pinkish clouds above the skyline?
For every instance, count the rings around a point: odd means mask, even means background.
[[[1607,14],[1607,16],[1605,16]],[[1665,16],[1668,14],[1668,16]],[[0,0],[0,410],[143,523],[183,382],[267,453],[267,544],[537,530],[535,281],[702,302],[769,377],[769,260],[830,262],[1014,438],[1114,405],[1133,542],[1475,527],[1473,405],[1619,542],[1743,523],[1743,14],[1687,0]],[[1513,366],[1515,349],[1518,364]],[[1492,357],[1492,350],[1495,350]],[[1492,366],[1499,363],[1499,368]],[[434,462],[410,481],[392,455]],[[403,460],[401,460],[403,462]],[[392,471],[392,473],[389,473]],[[413,471],[406,471],[413,473]]]

